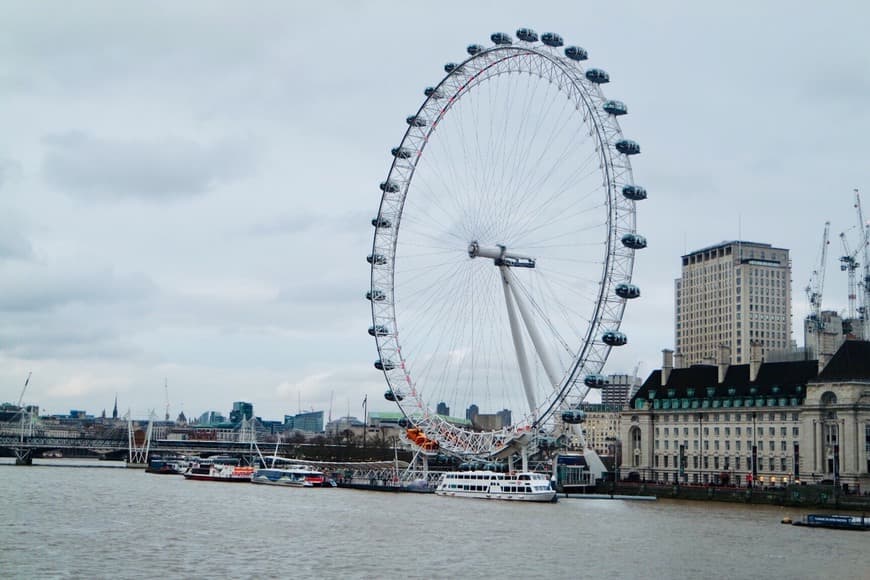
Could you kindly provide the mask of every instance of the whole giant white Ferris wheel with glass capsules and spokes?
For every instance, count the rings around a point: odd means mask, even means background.
[[[608,73],[555,33],[491,40],[407,117],[368,256],[385,397],[424,449],[478,457],[606,384],[646,246]]]

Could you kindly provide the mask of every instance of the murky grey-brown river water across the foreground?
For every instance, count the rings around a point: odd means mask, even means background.
[[[795,508],[187,481],[0,465],[0,578],[870,578],[870,533]]]

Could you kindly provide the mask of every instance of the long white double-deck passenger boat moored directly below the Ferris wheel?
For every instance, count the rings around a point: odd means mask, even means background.
[[[543,473],[498,473],[496,471],[448,471],[441,476],[437,495],[504,499],[510,501],[555,501],[556,490]]]

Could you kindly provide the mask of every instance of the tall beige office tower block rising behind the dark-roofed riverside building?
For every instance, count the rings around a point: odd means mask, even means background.
[[[762,357],[791,346],[786,249],[732,241],[686,254],[674,291],[676,366],[748,363],[750,342]],[[717,360],[723,345],[730,361]]]

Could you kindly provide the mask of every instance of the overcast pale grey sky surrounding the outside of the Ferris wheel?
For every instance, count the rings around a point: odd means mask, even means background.
[[[629,344],[672,348],[679,257],[789,248],[794,338],[825,220],[870,204],[864,2],[4,2],[0,401],[173,417],[393,410],[365,256],[405,117],[466,45],[559,32],[606,69],[641,144],[649,241]],[[870,205],[868,205],[870,211]],[[850,235],[854,237],[853,229]],[[854,244],[854,242],[853,242]]]

